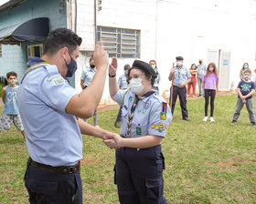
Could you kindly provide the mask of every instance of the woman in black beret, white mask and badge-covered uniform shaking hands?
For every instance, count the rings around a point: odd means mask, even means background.
[[[123,107],[122,138],[105,140],[105,144],[117,148],[114,180],[119,200],[123,204],[167,203],[161,141],[172,119],[171,110],[153,88],[156,73],[152,66],[135,60],[128,73],[127,90],[118,89],[116,69],[113,58],[109,67],[110,94]]]

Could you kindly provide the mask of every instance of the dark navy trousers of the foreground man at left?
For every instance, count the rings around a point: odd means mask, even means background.
[[[60,174],[31,166],[27,161],[25,186],[31,204],[81,204],[80,172]]]

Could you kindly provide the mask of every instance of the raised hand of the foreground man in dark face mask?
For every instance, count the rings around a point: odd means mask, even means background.
[[[94,64],[97,69],[107,69],[109,64],[109,55],[104,50],[102,42],[98,42],[95,46],[95,50],[93,53]]]

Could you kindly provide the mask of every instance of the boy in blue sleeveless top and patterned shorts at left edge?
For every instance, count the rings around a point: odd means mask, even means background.
[[[15,72],[8,72],[6,76],[8,85],[3,87],[2,90],[2,100],[5,107],[3,109],[2,116],[0,117],[0,132],[8,131],[14,123],[16,128],[21,131],[23,138],[26,139],[17,107],[17,75]]]

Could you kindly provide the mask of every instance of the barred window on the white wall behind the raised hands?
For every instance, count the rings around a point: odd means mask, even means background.
[[[111,57],[140,57],[139,30],[97,26],[97,40],[103,42]]]

